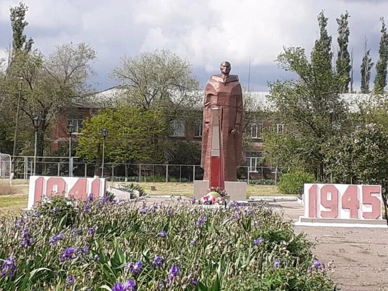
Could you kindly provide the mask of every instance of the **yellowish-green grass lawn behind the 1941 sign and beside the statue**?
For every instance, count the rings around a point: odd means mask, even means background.
[[[116,183],[118,182],[109,182],[109,185],[114,186]],[[190,196],[194,192],[193,183],[141,182],[140,185],[150,195]],[[152,191],[151,186],[156,190]],[[247,192],[247,196],[279,195],[277,187],[271,185],[248,185]],[[22,179],[13,180],[12,186],[8,180],[0,180],[0,215],[18,213],[27,207],[27,200],[28,184],[24,184]]]

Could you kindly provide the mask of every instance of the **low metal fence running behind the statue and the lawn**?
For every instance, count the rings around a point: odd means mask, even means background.
[[[13,158],[15,158],[15,178],[27,181],[33,174],[33,157]],[[76,157],[72,158],[71,164],[72,170],[69,171],[68,157],[38,157],[37,173],[42,176],[95,176],[95,164],[78,161]],[[101,173],[101,165],[97,168],[97,173]],[[281,172],[281,168],[241,166],[237,171],[237,178],[250,184],[275,185]],[[194,180],[202,180],[203,174],[203,169],[199,165],[104,163],[104,178],[110,181],[191,183]]]

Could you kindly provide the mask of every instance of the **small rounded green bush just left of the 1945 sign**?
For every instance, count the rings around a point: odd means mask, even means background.
[[[295,172],[283,174],[277,186],[279,187],[279,191],[283,194],[299,196],[303,189],[303,184],[313,182],[313,175],[304,172]]]

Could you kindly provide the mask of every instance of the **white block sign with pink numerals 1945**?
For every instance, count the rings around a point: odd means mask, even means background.
[[[382,219],[381,186],[305,184],[305,218]]]

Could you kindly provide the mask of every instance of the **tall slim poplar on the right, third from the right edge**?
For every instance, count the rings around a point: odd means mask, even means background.
[[[345,14],[341,14],[340,18],[337,18],[338,23],[338,56],[336,69],[339,75],[339,91],[341,93],[349,92],[350,82],[350,54],[348,51],[349,45],[349,13],[346,11]]]

